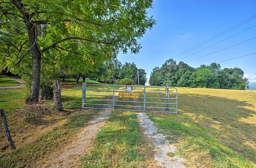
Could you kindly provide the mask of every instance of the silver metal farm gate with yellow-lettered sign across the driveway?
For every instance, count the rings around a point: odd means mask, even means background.
[[[177,114],[177,103],[173,87],[82,84],[82,108]]]

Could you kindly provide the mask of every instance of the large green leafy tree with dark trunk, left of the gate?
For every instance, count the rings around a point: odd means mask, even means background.
[[[0,5],[1,62],[15,68],[31,57],[32,103],[38,101],[41,58],[61,60],[73,53],[95,64],[119,51],[137,53],[137,39],[155,23],[146,12],[152,0],[0,0]]]

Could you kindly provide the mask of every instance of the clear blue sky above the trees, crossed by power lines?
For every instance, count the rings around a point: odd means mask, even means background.
[[[256,14],[255,0],[155,0],[153,4],[154,8],[148,10],[148,15],[153,15],[157,24],[139,40],[143,48],[138,54],[119,53],[118,55],[118,60],[123,64],[134,62],[138,68],[145,69],[148,79],[152,69],[161,66],[167,59],[174,58],[184,50]],[[256,18],[174,60],[178,61],[254,25],[256,25]],[[253,37],[256,37],[256,26],[180,61],[186,63]],[[199,67],[202,64],[209,65],[212,62],[220,62],[253,52],[256,52],[256,38],[187,64]],[[222,62],[220,65],[222,68],[239,67],[245,72],[245,77],[250,82],[256,82],[256,54]]]

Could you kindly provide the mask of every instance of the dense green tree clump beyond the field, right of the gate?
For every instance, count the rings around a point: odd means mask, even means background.
[[[150,76],[150,85],[164,86],[168,82],[174,87],[199,87],[216,89],[245,90],[248,79],[240,68],[221,69],[220,64],[211,63],[198,68],[190,67],[184,62],[167,60],[162,67],[155,67]]]

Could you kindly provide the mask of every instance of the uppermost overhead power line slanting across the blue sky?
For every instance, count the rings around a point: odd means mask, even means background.
[[[229,32],[229,31],[235,29],[236,27],[238,27],[238,26],[240,26],[240,25],[242,25],[242,24],[244,24],[244,23],[246,23],[246,22],[248,22],[248,21],[250,21],[250,20],[252,20],[252,19],[254,19],[255,17],[256,17],[256,15],[253,15],[253,16],[251,16],[251,17],[245,19],[244,21],[242,21],[242,22],[240,22],[240,23],[238,23],[238,24],[236,24],[236,25],[233,25],[233,26],[229,27],[227,30],[225,30],[225,31],[223,31],[223,32],[221,32],[221,33],[219,33],[219,34],[217,34],[217,35],[215,35],[215,36],[209,38],[208,40],[205,40],[205,41],[203,41],[203,42],[201,42],[201,43],[199,43],[199,44],[197,44],[197,45],[195,45],[195,46],[193,46],[193,47],[191,47],[191,48],[189,48],[189,49],[187,49],[187,50],[185,50],[185,51],[183,51],[183,52],[181,52],[181,53],[179,53],[179,54],[177,54],[177,55],[175,55],[173,59],[178,58],[178,57],[180,57],[181,55],[183,55],[183,54],[185,54],[185,53],[187,53],[187,52],[189,52],[189,51],[191,51],[191,50],[193,50],[193,49],[196,49],[196,48],[198,48],[199,46],[201,46],[201,45],[203,45],[203,44],[205,44],[205,43],[208,43],[208,42],[211,41],[211,40],[216,39],[217,37],[222,36],[223,34],[225,34],[225,33]],[[188,50],[189,50],[189,51],[188,51]],[[165,61],[164,61],[164,62],[165,62]],[[161,62],[161,63],[159,63],[159,64],[162,64],[162,63],[164,63],[164,62]],[[159,64],[156,64],[155,66],[157,66],[157,65],[159,65]],[[154,66],[154,67],[155,67],[155,66]],[[146,68],[145,70],[151,69],[151,68],[153,68],[153,67]]]

